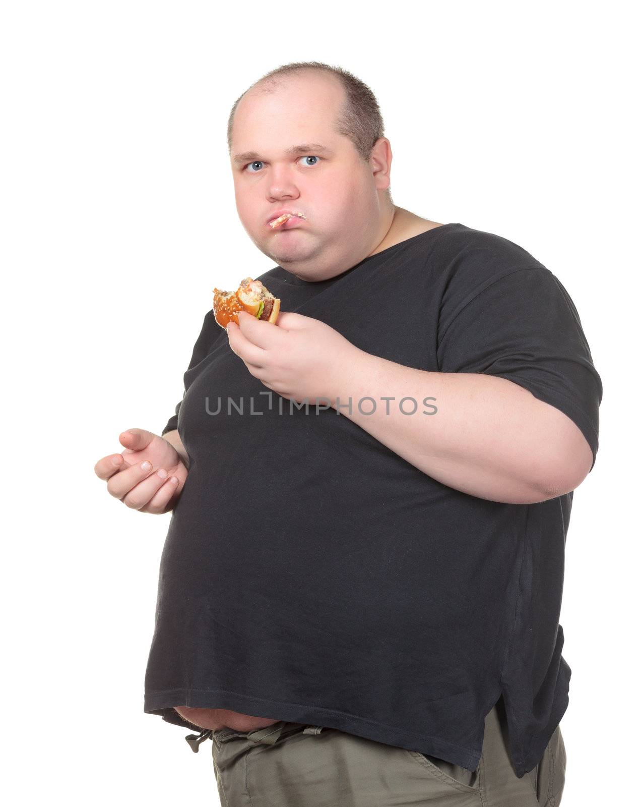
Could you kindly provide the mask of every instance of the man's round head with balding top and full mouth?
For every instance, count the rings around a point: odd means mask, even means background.
[[[320,62],[266,73],[235,102],[228,149],[244,229],[298,277],[332,278],[385,235],[395,211],[390,143],[374,95],[352,73]],[[270,228],[283,210],[305,220]]]

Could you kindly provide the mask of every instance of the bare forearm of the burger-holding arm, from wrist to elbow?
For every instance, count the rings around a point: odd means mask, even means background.
[[[340,415],[449,487],[511,504],[559,495],[553,434],[563,437],[568,419],[524,387],[485,374],[416,370],[361,350],[337,387],[332,408],[339,403]],[[374,411],[362,414],[358,402]]]

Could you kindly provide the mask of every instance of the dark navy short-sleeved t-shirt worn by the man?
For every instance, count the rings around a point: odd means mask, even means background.
[[[578,313],[512,241],[444,224],[335,278],[276,266],[259,279],[282,311],[368,353],[519,384],[595,456],[602,385]],[[323,725],[472,771],[503,696],[517,776],[532,770],[568,705],[573,494],[480,499],[332,408],[291,408],[212,312],[184,387],[162,432],[178,429],[190,470],[161,557],[144,711],[191,729],[173,706]]]

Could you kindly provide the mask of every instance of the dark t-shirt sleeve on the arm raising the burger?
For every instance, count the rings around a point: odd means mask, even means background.
[[[603,388],[572,299],[545,267],[512,270],[453,317],[438,345],[445,373],[486,373],[520,384],[570,417],[599,447]]]

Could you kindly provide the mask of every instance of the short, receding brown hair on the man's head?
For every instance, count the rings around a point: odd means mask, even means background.
[[[344,87],[346,98],[344,105],[341,107],[336,120],[336,132],[340,135],[348,137],[353,142],[355,149],[361,159],[365,162],[370,160],[370,154],[373,151],[374,144],[380,137],[384,136],[384,121],[382,113],[379,111],[377,98],[370,90],[370,87],[361,82],[357,76],[350,73],[341,67],[332,65],[325,65],[321,61],[293,61],[288,65],[281,65],[269,73],[265,73],[261,78],[257,79],[247,90],[240,95],[231,109],[231,114],[228,116],[227,127],[227,142],[228,153],[231,155],[231,143],[233,138],[233,120],[235,112],[240,100],[257,85],[264,85],[264,92],[273,92],[282,82],[279,81],[281,77],[298,76],[305,71],[316,71],[321,73],[330,73],[335,76],[341,86]],[[390,199],[390,186],[386,190],[386,196]]]

